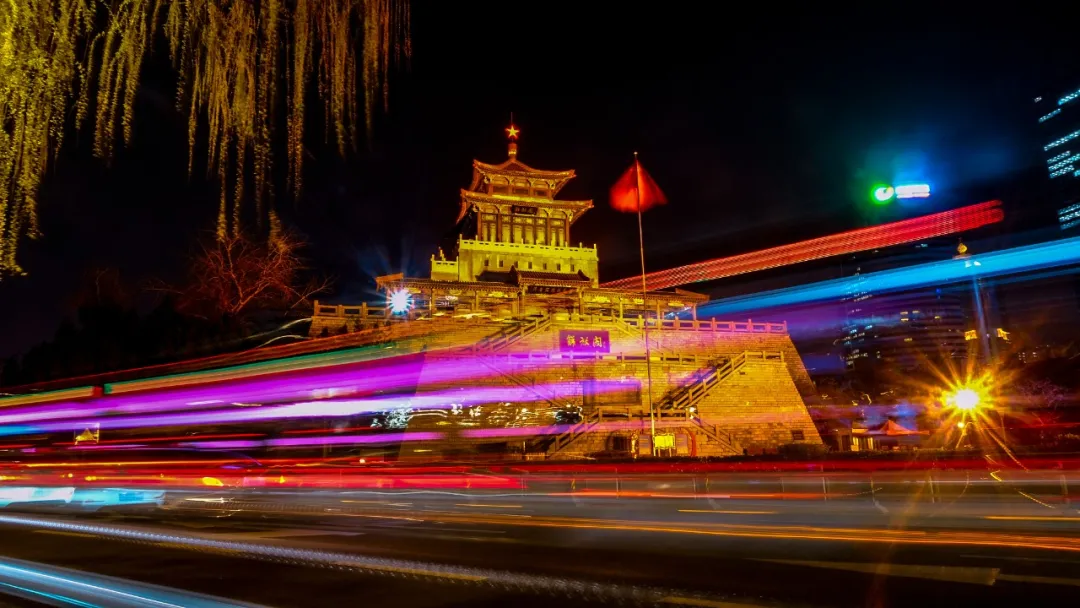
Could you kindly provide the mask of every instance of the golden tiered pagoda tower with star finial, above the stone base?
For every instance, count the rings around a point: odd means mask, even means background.
[[[517,158],[521,131],[507,129],[508,158],[473,161],[460,192],[458,237],[431,257],[427,278],[379,276],[388,294],[407,292],[409,314],[465,313],[499,317],[599,313],[645,317],[696,311],[708,298],[681,289],[599,287],[596,245],[573,243],[570,229],[593,202],[559,199],[572,170],[534,168]]]

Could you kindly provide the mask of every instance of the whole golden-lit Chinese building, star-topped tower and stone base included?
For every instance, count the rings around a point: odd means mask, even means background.
[[[431,437],[403,443],[403,457],[724,456],[821,443],[785,325],[699,320],[707,297],[681,289],[600,287],[596,246],[571,237],[592,201],[559,199],[573,171],[525,164],[517,130],[508,133],[505,161],[473,162],[457,241],[432,256],[429,276],[378,278],[384,308],[315,305],[313,336],[357,333],[390,353],[422,353],[415,394],[426,405],[384,418]],[[432,406],[432,395],[446,403]]]

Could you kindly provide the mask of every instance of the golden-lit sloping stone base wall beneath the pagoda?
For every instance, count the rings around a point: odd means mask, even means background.
[[[793,443],[820,444],[821,438],[807,411],[801,394],[813,390],[806,368],[791,338],[779,333],[740,333],[689,329],[651,329],[649,341],[653,361],[643,359],[644,333],[625,323],[611,321],[552,321],[544,329],[486,354],[454,351],[475,344],[509,325],[490,320],[454,319],[391,322],[357,334],[373,341],[388,342],[397,351],[428,352],[418,386],[424,392],[447,395],[438,410],[414,413],[409,431],[438,431],[445,440],[404,444],[401,457],[451,456],[487,448],[529,451],[543,444],[527,431],[565,421],[568,411],[585,418],[596,411],[583,392],[589,380],[602,379],[625,386],[634,394],[626,403],[605,402],[600,427],[582,435],[551,457],[573,458],[619,449],[633,449],[634,440],[648,433],[648,371],[652,374],[652,402],[663,403],[673,391],[691,381],[711,362],[740,353],[782,353],[783,360],[753,360],[715,386],[697,405],[706,425],[716,425],[732,440],[718,443],[685,416],[659,419],[659,427],[689,438],[684,445],[697,456],[729,456],[775,451]],[[607,330],[610,353],[589,359],[564,357],[561,330]],[[395,346],[394,346],[395,344]],[[392,354],[388,352],[388,354]],[[455,391],[505,389],[505,401],[480,407],[453,408]],[[497,395],[503,391],[496,391]],[[801,394],[800,394],[801,393]],[[615,394],[622,395],[623,392]],[[620,397],[621,398],[621,397]],[[593,400],[595,402],[595,398]],[[604,400],[600,400],[604,401]],[[622,408],[620,417],[612,410]],[[629,416],[627,416],[629,414]],[[478,429],[491,430],[476,436]]]

